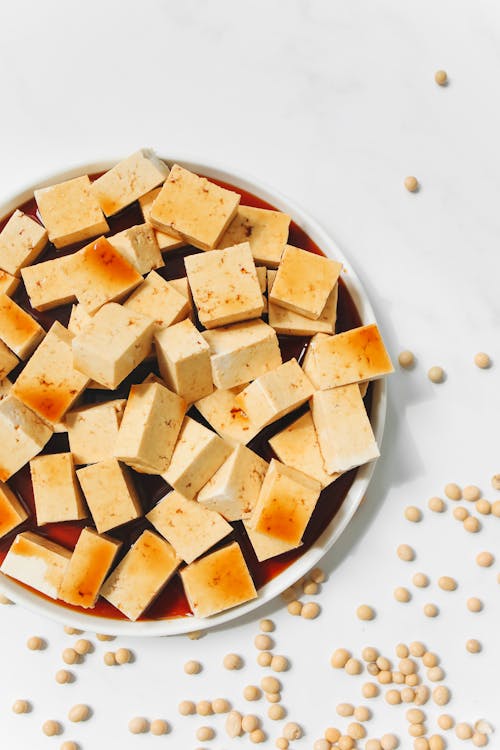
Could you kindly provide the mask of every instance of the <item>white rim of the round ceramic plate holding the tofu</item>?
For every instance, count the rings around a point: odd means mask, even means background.
[[[120,158],[112,161],[101,161],[93,164],[83,164],[75,167],[74,169],[59,172],[58,174],[51,175],[47,179],[39,182],[36,185],[32,185],[23,192],[14,196],[11,200],[4,202],[0,205],[0,217],[5,216],[14,208],[17,208],[20,204],[29,200],[33,197],[33,191],[45,187],[47,185],[53,185],[54,183],[67,180],[72,177],[78,177],[82,174],[92,174],[95,172],[102,172],[110,169],[114,166]],[[365,290],[363,289],[356,273],[354,272],[351,264],[344,256],[340,248],[336,243],[328,236],[328,234],[319,226],[319,224],[312,219],[305,211],[296,206],[291,200],[286,198],[281,193],[268,188],[261,183],[257,182],[253,178],[243,176],[239,173],[224,171],[223,169],[207,166],[205,164],[193,163],[185,161],[183,159],[173,160],[166,158],[169,164],[174,161],[178,161],[187,169],[197,172],[207,177],[213,177],[214,179],[222,180],[234,185],[237,188],[246,190],[259,198],[268,201],[276,208],[289,214],[293,221],[299,225],[314,242],[321,248],[321,250],[328,256],[335,258],[335,260],[341,261],[344,265],[345,273],[342,276],[344,283],[346,284],[352,299],[358,309],[358,313],[363,321],[363,324],[374,323],[375,315],[370,305]],[[372,400],[372,413],[371,422],[373,431],[380,445],[382,441],[382,435],[384,431],[385,413],[386,413],[386,384],[385,379],[378,380],[374,387],[373,400]],[[226,612],[221,612],[218,615],[207,619],[198,619],[196,617],[180,617],[167,620],[154,620],[144,622],[128,622],[125,620],[114,620],[112,618],[95,617],[85,613],[75,612],[71,609],[61,606],[56,601],[49,602],[42,599],[40,596],[32,593],[31,591],[23,588],[16,584],[12,579],[9,579],[0,574],[0,588],[13,601],[25,606],[27,609],[31,609],[38,614],[46,615],[47,617],[58,620],[65,625],[72,625],[75,628],[82,630],[91,630],[93,632],[102,633],[113,633],[116,635],[128,635],[128,636],[164,636],[164,635],[177,635],[180,633],[188,633],[192,630],[206,630],[213,628],[216,625],[234,620],[237,617],[248,614],[257,607],[260,607],[265,602],[269,602],[275,596],[280,594],[286,588],[291,586],[301,576],[305,575],[314,565],[317,565],[323,555],[330,549],[330,547],[340,537],[347,524],[353,517],[357,508],[361,504],[368,484],[372,477],[375,468],[375,463],[365,464],[358,469],[354,482],[347,493],[341,507],[332,521],[325,528],[321,536],[316,540],[310,549],[307,550],[304,555],[298,558],[292,563],[286,570],[273,578],[269,583],[266,583],[259,590],[259,596],[257,599],[248,602],[247,604],[240,605],[234,609],[230,609]]]

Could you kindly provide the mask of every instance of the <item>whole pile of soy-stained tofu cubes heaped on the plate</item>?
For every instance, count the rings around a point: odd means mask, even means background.
[[[300,547],[323,488],[379,455],[363,402],[392,371],[377,326],[335,333],[342,266],[289,245],[289,216],[150,150],[35,200],[40,221],[17,210],[0,232],[2,573],[77,607],[104,597],[130,620],[175,575],[198,617],[254,599],[238,534],[259,562]],[[135,202],[143,223],[111,235]],[[72,252],[40,259],[48,243]],[[167,281],[184,246],[185,276]],[[45,331],[13,299],[20,284],[32,310],[71,303],[67,327]],[[310,337],[302,365],[283,361],[278,334]],[[143,362],[149,375],[117,398]],[[270,463],[248,447],[265,428]],[[44,452],[56,432],[69,450]],[[28,463],[23,530],[9,479]],[[147,513],[141,474],[168,485]],[[137,519],[124,549],[114,532]],[[46,529],[67,521],[82,526],[72,550]]]

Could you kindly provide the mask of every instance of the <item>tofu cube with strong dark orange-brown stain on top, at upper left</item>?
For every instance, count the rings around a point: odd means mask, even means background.
[[[105,237],[91,242],[74,256],[76,298],[93,315],[106,302],[119,302],[142,284],[139,271]]]

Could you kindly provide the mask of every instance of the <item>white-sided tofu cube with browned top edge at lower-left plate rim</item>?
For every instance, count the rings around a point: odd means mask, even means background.
[[[57,599],[71,552],[31,531],[18,534],[0,567],[16,581]]]

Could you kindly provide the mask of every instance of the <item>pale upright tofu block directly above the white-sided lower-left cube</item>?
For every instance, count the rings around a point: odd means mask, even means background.
[[[71,453],[50,453],[30,461],[38,526],[87,517]]]

